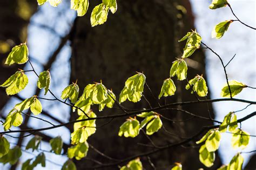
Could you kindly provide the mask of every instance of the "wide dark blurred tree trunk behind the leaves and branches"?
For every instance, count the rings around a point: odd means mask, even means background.
[[[89,13],[95,2],[90,2]],[[98,2],[99,3],[99,2]],[[93,81],[103,81],[108,89],[113,89],[116,96],[124,87],[125,80],[136,71],[143,72],[146,82],[151,87],[154,96],[158,96],[163,80],[169,78],[171,64],[176,57],[182,55],[184,43],[179,44],[178,39],[183,37],[186,32],[193,29],[193,15],[188,0],[183,1],[118,1],[118,10],[112,15],[109,13],[107,22],[103,25],[91,28],[90,15],[80,17],[76,22],[75,34],[72,37],[72,58],[71,58],[71,81],[78,79],[78,84],[83,88]],[[188,78],[193,78],[196,74],[205,75],[204,53],[198,50],[187,60]],[[166,102],[196,100],[185,90],[185,81],[177,81],[176,96],[169,97]],[[152,106],[157,106],[146,86],[144,94]],[[164,104],[164,99],[160,100]],[[149,108],[144,99],[138,104],[125,103],[128,108]],[[212,113],[212,106],[210,105]],[[181,108],[181,107],[180,107]],[[206,104],[191,105],[182,107],[192,113],[208,117]],[[93,108],[97,115],[118,114],[120,110],[105,109],[98,112]],[[166,117],[175,120],[190,118],[181,112],[159,111]],[[76,115],[72,114],[71,119]],[[99,151],[111,157],[123,159],[152,149],[137,145],[138,142],[150,144],[143,133],[134,139],[118,137],[119,126],[125,118],[114,119],[110,124],[102,128],[97,128],[96,134],[89,138],[89,143]],[[198,132],[204,125],[211,125],[211,121],[192,119],[181,123],[165,121],[164,126],[167,130],[181,137],[191,137]],[[102,125],[104,121],[97,120],[96,124]],[[71,130],[72,131],[72,130]],[[150,138],[156,145],[167,144],[167,142],[178,142],[182,139],[169,135],[163,128]],[[192,143],[191,143],[192,144]],[[193,144],[192,144],[193,145]],[[167,151],[151,155],[150,158],[156,167],[173,165],[174,162],[181,162],[185,169],[198,169],[204,167],[199,162],[199,148],[170,148]],[[102,162],[108,162],[99,154],[89,150],[90,158]],[[146,169],[151,169],[146,158],[142,158]],[[89,167],[89,161],[77,161],[78,169]],[[215,164],[212,168],[219,167],[220,160],[217,155]],[[188,168],[189,167],[189,168]],[[111,167],[117,169],[117,167]],[[106,169],[111,169],[110,167]]]

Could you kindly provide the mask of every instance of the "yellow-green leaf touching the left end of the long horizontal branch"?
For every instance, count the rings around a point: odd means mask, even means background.
[[[3,124],[4,131],[7,131],[11,126],[20,126],[22,124],[23,117],[20,112],[13,108],[7,115],[5,122]]]

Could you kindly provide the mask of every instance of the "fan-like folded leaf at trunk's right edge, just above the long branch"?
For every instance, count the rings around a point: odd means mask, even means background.
[[[190,86],[193,86],[193,91],[195,91],[200,97],[205,97],[208,93],[206,81],[202,76],[197,75],[195,78],[188,81],[186,90],[190,89]],[[193,93],[193,91],[191,93]]]

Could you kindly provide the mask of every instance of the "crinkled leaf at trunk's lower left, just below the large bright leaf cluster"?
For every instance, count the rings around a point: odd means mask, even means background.
[[[71,146],[70,148],[68,148],[68,157],[70,159],[75,157],[76,160],[80,160],[86,157],[88,149],[89,149],[89,145],[86,141],[82,143],[78,143],[77,145]]]

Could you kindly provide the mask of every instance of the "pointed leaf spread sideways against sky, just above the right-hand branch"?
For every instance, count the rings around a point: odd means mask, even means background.
[[[247,85],[245,85],[237,80],[228,81],[228,84],[230,85],[232,97],[234,97],[235,95],[240,93],[242,91],[242,89],[247,87]],[[230,90],[228,89],[228,85],[225,84],[223,89],[221,90],[220,96],[221,97],[230,97]]]

